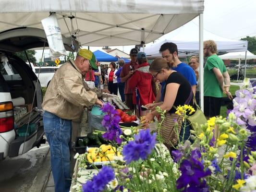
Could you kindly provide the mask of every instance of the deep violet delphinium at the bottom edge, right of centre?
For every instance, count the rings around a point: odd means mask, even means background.
[[[204,170],[203,164],[198,160],[199,158],[201,158],[200,151],[194,149],[190,158],[182,161],[179,168],[182,175],[177,180],[177,189],[183,189],[183,192],[208,191],[204,177],[211,175],[211,171],[209,169]]]

